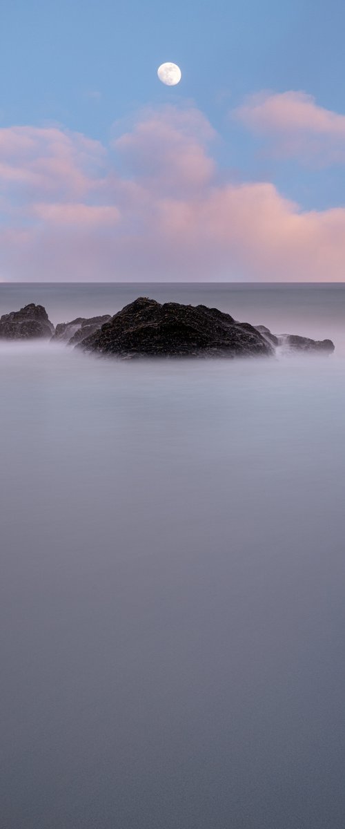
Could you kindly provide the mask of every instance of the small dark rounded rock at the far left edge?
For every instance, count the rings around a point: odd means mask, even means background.
[[[54,325],[48,319],[46,308],[31,303],[20,311],[5,313],[0,318],[0,337],[8,340],[29,340],[51,337]]]

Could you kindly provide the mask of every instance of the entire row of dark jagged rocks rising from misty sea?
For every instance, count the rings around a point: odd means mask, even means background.
[[[78,317],[54,328],[46,308],[31,303],[3,314],[0,338],[50,338],[99,354],[134,356],[270,356],[283,351],[334,351],[332,340],[296,334],[272,334],[265,325],[237,322],[230,314],[205,305],[157,303],[139,297],[113,317]]]

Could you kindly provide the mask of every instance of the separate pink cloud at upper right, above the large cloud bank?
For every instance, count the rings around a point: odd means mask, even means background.
[[[318,106],[305,92],[251,95],[232,115],[280,156],[323,166],[345,161],[345,115]]]

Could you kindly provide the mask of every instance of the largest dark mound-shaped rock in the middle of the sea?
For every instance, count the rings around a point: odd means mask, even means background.
[[[80,343],[85,351],[133,356],[268,356],[271,343],[247,322],[205,305],[140,297]]]

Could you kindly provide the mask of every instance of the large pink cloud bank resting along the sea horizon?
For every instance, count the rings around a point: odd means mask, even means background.
[[[108,148],[0,129],[0,279],[343,281],[345,208],[303,211],[271,182],[229,182],[215,138],[197,109],[173,107],[141,113]]]

